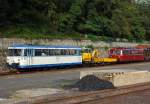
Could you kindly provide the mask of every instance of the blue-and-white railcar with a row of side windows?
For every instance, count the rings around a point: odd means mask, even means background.
[[[81,65],[81,48],[76,46],[13,45],[7,63],[15,68],[42,68]]]

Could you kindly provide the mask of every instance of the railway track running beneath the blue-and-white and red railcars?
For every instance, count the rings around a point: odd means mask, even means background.
[[[105,67],[119,67],[119,66],[132,66],[136,64],[142,64],[142,63],[149,63],[149,62],[134,62],[134,63],[116,63],[116,64],[103,64],[103,65],[92,65],[92,66],[76,66],[76,67],[67,67],[67,68],[48,68],[48,69],[27,69],[24,71],[7,71],[0,73],[0,76],[7,76],[7,75],[17,75],[17,74],[31,74],[31,73],[39,73],[39,72],[62,72],[62,71],[77,71],[81,69],[89,69],[89,68],[105,68]]]

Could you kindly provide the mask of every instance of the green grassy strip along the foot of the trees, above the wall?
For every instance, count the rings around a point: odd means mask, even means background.
[[[47,26],[24,26],[24,25],[16,25],[16,26],[7,26],[0,28],[1,37],[5,38],[25,38],[25,39],[74,39],[74,40],[91,40],[91,41],[99,41],[102,40],[100,36],[96,35],[85,35],[79,33],[51,33]]]

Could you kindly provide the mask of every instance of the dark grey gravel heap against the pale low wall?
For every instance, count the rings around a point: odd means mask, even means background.
[[[111,82],[99,79],[94,75],[87,75],[83,77],[75,83],[74,87],[78,88],[80,91],[95,91],[115,88]]]

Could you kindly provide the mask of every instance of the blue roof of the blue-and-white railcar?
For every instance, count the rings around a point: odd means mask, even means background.
[[[78,46],[65,46],[65,45],[28,45],[28,44],[16,44],[16,45],[12,45],[8,48],[32,48],[32,49],[39,49],[39,48],[71,48],[71,49],[81,49],[81,47]]]

